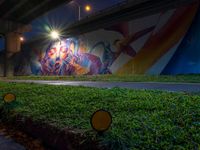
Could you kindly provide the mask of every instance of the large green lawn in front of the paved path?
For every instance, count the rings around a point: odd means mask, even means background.
[[[17,96],[13,107],[4,106],[8,116],[20,114],[59,128],[88,132],[92,113],[108,110],[113,123],[98,139],[113,150],[200,148],[198,93],[0,82],[0,95],[7,92]]]

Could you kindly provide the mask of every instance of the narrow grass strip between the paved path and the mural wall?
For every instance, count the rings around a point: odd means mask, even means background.
[[[0,78],[6,79],[6,78]],[[78,81],[124,81],[124,82],[191,82],[200,83],[200,75],[82,75],[82,76],[17,76],[7,79],[25,80],[78,80]]]

